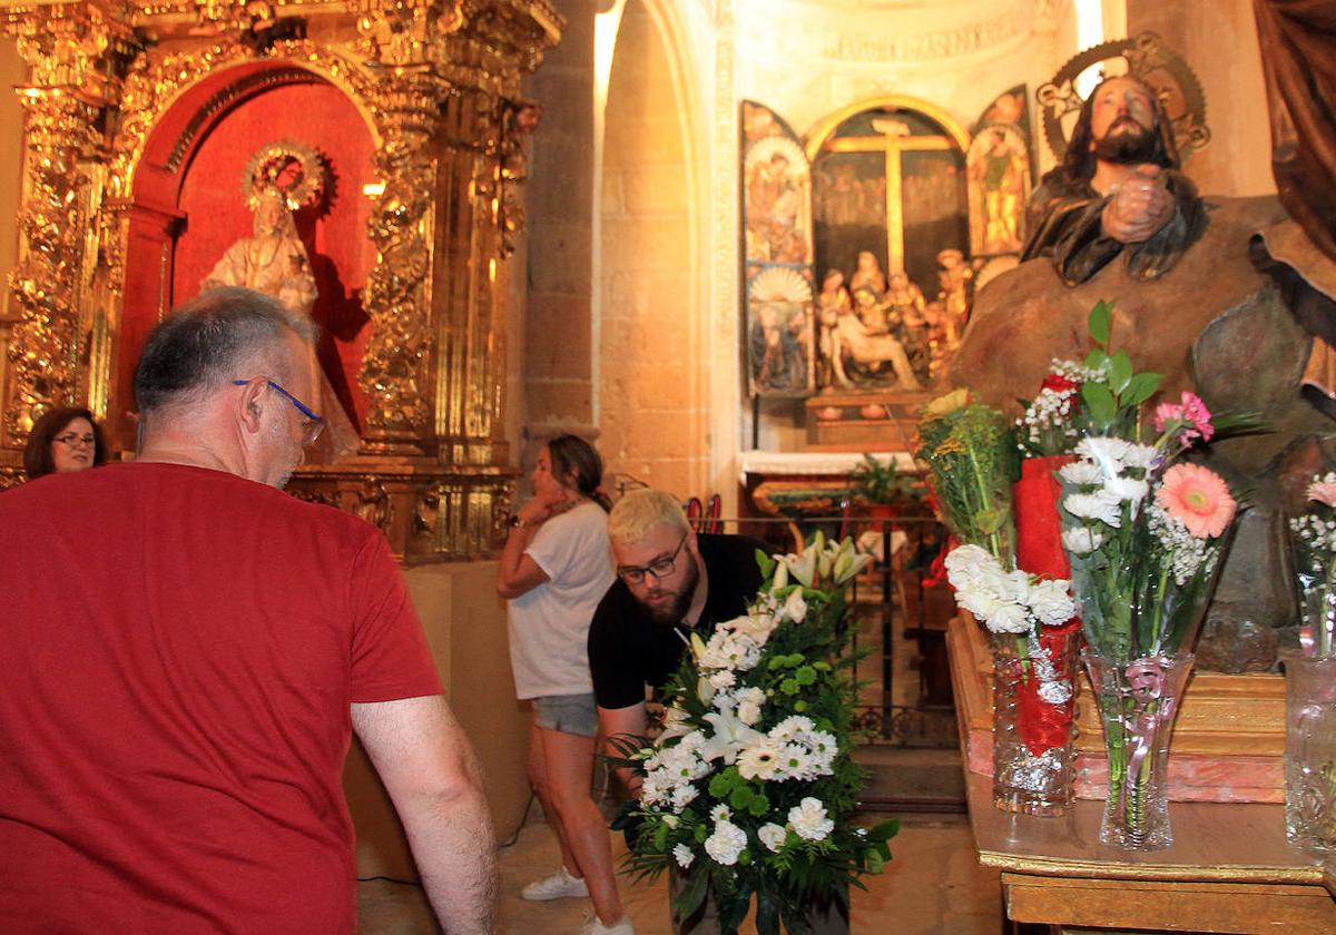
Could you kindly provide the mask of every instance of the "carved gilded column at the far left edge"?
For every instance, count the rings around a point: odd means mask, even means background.
[[[90,179],[114,99],[114,63],[130,31],[102,4],[11,9],[4,27],[32,69],[17,89],[24,107],[24,180],[19,260],[9,276],[20,321],[11,337],[13,393],[5,401],[4,446],[19,447],[41,411],[80,395],[79,298],[90,252]],[[94,170],[96,174],[96,170]]]

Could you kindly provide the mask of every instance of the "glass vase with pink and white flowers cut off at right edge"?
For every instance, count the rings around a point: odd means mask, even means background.
[[[1336,851],[1336,473],[1312,478],[1289,521],[1300,652],[1285,663],[1285,835]]]

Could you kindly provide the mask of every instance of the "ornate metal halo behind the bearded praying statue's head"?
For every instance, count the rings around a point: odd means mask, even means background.
[[[1210,142],[1206,126],[1206,95],[1188,63],[1166,47],[1154,32],[1134,39],[1114,39],[1078,52],[1067,59],[1053,80],[1035,92],[1043,111],[1043,136],[1053,156],[1061,163],[1067,152],[1067,130],[1062,119],[1079,112],[1085,99],[1077,92],[1075,80],[1090,65],[1122,59],[1126,71],[1108,75],[1132,75],[1154,91],[1160,107],[1169,115],[1178,155],[1186,159]]]

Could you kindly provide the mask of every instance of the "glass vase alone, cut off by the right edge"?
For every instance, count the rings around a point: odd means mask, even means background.
[[[1287,653],[1285,836],[1336,852],[1336,657]]]

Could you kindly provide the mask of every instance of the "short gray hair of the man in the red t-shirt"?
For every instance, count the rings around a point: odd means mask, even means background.
[[[144,342],[135,369],[140,415],[188,406],[234,379],[255,377],[255,362],[287,369],[286,333],[315,339],[315,325],[263,293],[210,289],[170,313]],[[286,377],[287,374],[278,374]]]

